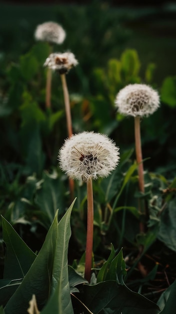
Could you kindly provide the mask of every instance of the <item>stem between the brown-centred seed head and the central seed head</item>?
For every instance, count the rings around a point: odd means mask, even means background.
[[[68,94],[65,74],[60,74],[60,78],[61,78],[61,83],[62,83],[62,88],[63,88],[63,97],[64,97],[64,103],[65,103],[68,136],[71,137],[72,136],[71,111],[70,111],[69,94]]]

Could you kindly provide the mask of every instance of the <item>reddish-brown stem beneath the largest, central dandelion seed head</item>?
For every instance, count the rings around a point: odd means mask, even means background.
[[[85,279],[90,282],[93,249],[93,189],[92,180],[87,181],[87,237],[85,249]]]

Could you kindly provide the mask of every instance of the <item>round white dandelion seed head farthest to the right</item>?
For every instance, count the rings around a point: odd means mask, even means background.
[[[124,115],[148,116],[159,107],[159,95],[145,84],[129,84],[115,98],[118,112]]]

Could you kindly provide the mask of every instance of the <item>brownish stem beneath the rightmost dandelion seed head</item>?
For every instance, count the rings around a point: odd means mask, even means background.
[[[140,117],[134,117],[134,132],[135,132],[135,154],[136,161],[138,164],[138,185],[139,191],[144,193],[144,179],[143,179],[143,163],[142,163],[142,150],[141,150],[141,139],[140,139]],[[144,206],[143,206],[144,207]],[[142,213],[141,200],[138,200],[139,213]],[[146,215],[144,208],[144,215]],[[144,232],[144,224],[140,222],[139,224],[140,232]]]

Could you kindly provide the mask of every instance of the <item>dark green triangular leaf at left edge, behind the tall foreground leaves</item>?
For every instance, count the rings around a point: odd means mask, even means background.
[[[6,245],[3,278],[23,278],[36,255],[2,217],[3,241]]]

